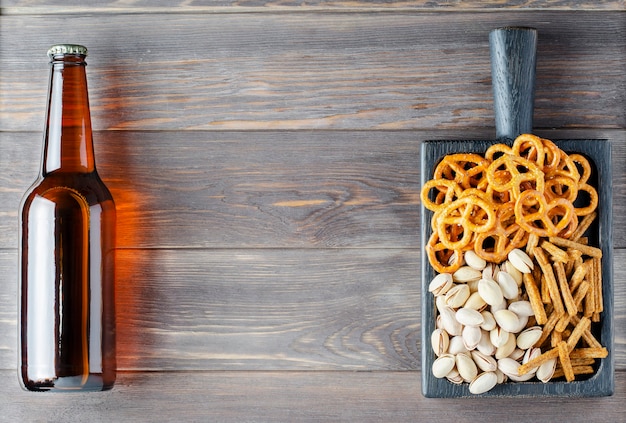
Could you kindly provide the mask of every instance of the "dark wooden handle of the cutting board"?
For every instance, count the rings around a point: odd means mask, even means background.
[[[533,128],[537,30],[505,27],[489,33],[496,138],[514,139]]]

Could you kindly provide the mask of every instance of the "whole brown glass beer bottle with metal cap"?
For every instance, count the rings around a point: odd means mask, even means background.
[[[55,45],[41,171],[20,210],[19,356],[33,391],[115,382],[115,205],[96,172],[87,49]]]

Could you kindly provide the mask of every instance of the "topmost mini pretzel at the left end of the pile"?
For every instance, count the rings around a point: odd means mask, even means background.
[[[462,188],[477,187],[488,165],[489,162],[478,154],[450,154],[439,162],[434,177],[456,181]]]

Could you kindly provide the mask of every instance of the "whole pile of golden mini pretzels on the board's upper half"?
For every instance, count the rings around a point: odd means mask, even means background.
[[[585,157],[530,134],[512,146],[494,144],[484,156],[445,156],[421,191],[424,206],[434,212],[426,246],[430,264],[451,273],[467,250],[500,263],[531,234],[579,235],[592,220],[584,217],[595,215],[598,205],[590,175]]]

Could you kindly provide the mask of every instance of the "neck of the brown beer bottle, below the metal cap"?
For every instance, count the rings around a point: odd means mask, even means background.
[[[43,176],[95,170],[84,56],[56,56],[51,62],[44,131]]]

